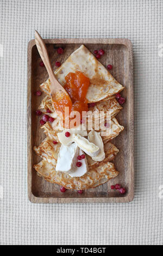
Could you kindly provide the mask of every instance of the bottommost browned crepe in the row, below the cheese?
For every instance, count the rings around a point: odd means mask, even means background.
[[[110,162],[102,162],[96,168],[90,167],[89,172],[82,177],[74,178],[71,178],[66,173],[56,172],[54,166],[44,160],[35,164],[34,168],[45,180],[73,190],[86,190],[87,188],[97,187],[118,175],[114,163]]]

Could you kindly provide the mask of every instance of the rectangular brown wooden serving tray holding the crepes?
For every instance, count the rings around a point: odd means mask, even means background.
[[[28,44],[28,197],[32,203],[127,203],[134,198],[134,95],[133,95],[133,53],[131,41],[128,39],[45,39],[49,57],[54,70],[55,62],[63,63],[72,52],[84,44],[92,53],[94,50],[103,49],[104,56],[99,60],[104,66],[113,66],[110,73],[121,83],[125,89],[122,96],[126,103],[122,111],[117,114],[118,122],[124,126],[112,143],[120,150],[114,163],[119,171],[115,179],[96,188],[85,190],[83,194],[67,190],[61,193],[59,185],[51,184],[39,177],[33,168],[35,163],[41,161],[34,151],[34,145],[39,145],[45,137],[40,129],[39,117],[35,110],[45,95],[35,96],[39,85],[46,81],[48,74],[45,67],[39,65],[41,58],[37,51],[35,40]],[[64,48],[64,54],[57,54],[57,47]],[[127,188],[127,193],[122,195],[112,191],[110,186],[121,184]]]

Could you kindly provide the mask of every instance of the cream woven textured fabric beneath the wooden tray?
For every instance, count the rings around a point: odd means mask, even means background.
[[[0,0],[0,22],[0,243],[161,245],[163,1]],[[128,38],[132,41],[133,202],[53,205],[29,202],[27,44],[34,39],[34,29],[43,38]]]

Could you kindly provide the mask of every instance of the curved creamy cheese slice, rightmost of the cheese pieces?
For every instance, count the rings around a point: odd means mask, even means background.
[[[104,144],[103,144],[103,141],[102,141],[102,138],[101,138],[99,132],[96,132],[95,130],[92,129],[89,132],[87,138],[89,139],[90,142],[94,143],[101,149],[101,151],[99,152],[99,154],[97,156],[92,156],[92,159],[94,161],[98,161],[98,162],[103,161],[105,159]]]

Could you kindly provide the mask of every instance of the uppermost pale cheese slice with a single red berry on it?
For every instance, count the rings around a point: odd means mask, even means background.
[[[70,132],[70,136],[66,137],[65,133],[66,132]],[[74,130],[74,129],[69,129],[69,130],[64,130],[62,132],[58,132],[58,139],[60,141],[60,143],[64,144],[64,145],[70,145],[72,142],[74,142],[73,140],[73,135],[81,135],[81,136],[87,136],[87,131],[86,130]]]

